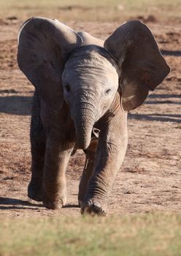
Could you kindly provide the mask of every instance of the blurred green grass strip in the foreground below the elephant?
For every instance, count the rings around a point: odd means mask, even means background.
[[[179,256],[181,214],[1,219],[0,255]]]

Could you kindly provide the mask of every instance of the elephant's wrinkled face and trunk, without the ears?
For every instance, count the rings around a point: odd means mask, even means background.
[[[93,124],[109,109],[118,91],[118,73],[104,48],[87,45],[69,57],[62,78],[77,147],[84,149],[90,144]]]

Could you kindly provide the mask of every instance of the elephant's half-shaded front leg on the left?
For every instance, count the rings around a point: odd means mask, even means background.
[[[57,209],[66,204],[66,167],[74,143],[47,139],[42,201],[46,208]]]

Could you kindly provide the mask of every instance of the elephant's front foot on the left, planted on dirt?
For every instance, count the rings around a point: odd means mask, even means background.
[[[58,210],[62,208],[66,205],[66,189],[58,195],[43,193],[42,202],[47,209]]]

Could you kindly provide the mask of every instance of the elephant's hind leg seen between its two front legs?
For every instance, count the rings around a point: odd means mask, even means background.
[[[88,187],[88,181],[90,180],[90,177],[93,174],[93,162],[94,162],[94,156],[96,153],[96,148],[97,148],[97,140],[92,140],[90,143],[90,146],[87,149],[85,149],[85,154],[86,154],[85,166],[82,172],[82,177],[80,179],[79,195],[78,195],[78,202],[80,206],[82,206],[82,202],[85,197],[85,192]]]

